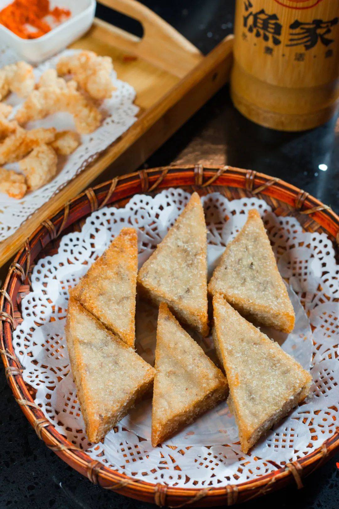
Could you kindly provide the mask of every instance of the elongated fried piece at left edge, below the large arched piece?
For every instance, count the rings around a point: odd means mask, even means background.
[[[14,132],[0,143],[0,164],[19,161],[38,145],[53,142],[55,133],[54,127],[26,131],[17,126]]]

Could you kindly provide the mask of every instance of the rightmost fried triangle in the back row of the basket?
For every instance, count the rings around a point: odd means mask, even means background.
[[[251,320],[287,333],[293,330],[293,306],[257,210],[249,211],[244,227],[227,245],[208,293],[222,294]]]

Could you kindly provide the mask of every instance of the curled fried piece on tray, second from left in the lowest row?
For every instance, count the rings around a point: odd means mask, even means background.
[[[56,173],[57,155],[46,144],[38,145],[19,161],[19,167],[26,176],[28,189],[39,189],[49,182]]]

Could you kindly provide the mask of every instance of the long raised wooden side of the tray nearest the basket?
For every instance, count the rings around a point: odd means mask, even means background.
[[[109,165],[119,159],[120,167],[128,172],[140,166],[195,112],[205,104],[228,81],[232,64],[233,36],[226,37],[206,55],[187,76],[183,77],[162,99],[146,110],[141,117],[98,157],[88,164],[65,187],[57,191],[47,203],[26,219],[7,239],[0,242],[0,266],[7,262],[42,220],[81,192]],[[185,104],[183,108],[182,105]],[[162,120],[166,117],[166,125]],[[174,119],[174,120],[172,120]],[[147,134],[153,130],[148,139]],[[133,160],[128,151],[142,138],[142,150]],[[23,228],[22,228],[23,227]]]

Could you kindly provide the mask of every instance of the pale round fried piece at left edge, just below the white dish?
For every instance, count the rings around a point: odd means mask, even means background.
[[[35,86],[33,67],[26,62],[6,65],[0,69],[0,100],[9,92],[26,97]]]

